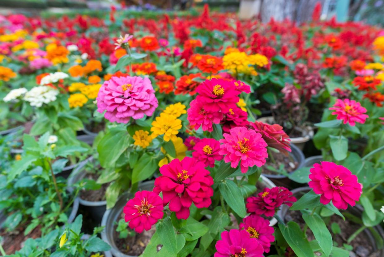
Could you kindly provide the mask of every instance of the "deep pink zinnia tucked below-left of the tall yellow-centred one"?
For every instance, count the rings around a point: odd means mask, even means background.
[[[190,126],[194,129],[199,129],[200,125],[202,126],[203,131],[213,131],[212,124],[220,123],[220,120],[223,117],[223,113],[221,112],[211,112],[208,111],[206,105],[202,101],[198,101],[197,99],[193,100],[190,103],[190,108],[187,110],[188,113],[188,121]]]

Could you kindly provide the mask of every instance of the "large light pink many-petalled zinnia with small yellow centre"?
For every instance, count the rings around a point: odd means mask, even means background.
[[[97,100],[98,112],[110,122],[127,123],[129,118],[151,116],[159,105],[151,80],[141,77],[112,77],[103,83]]]

